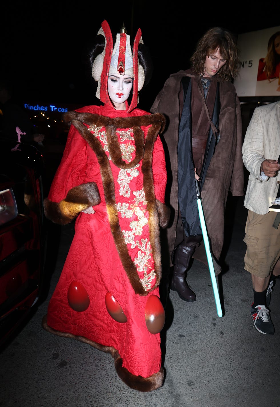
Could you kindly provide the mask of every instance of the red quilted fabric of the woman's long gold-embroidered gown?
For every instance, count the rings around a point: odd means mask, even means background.
[[[88,112],[109,118],[150,115],[140,109],[132,112],[105,106],[87,106],[77,112]],[[154,115],[150,115],[152,117]],[[89,126],[87,126],[89,127]],[[150,126],[141,126],[146,139]],[[105,128],[90,126],[94,137],[109,157]],[[129,129],[118,129],[118,144],[125,162],[135,158],[135,140]],[[155,198],[164,203],[166,168],[159,136],[153,147],[152,179]],[[149,332],[145,306],[150,295],[159,296],[160,276],[155,272],[155,259],[150,244],[149,211],[143,189],[142,160],[129,170],[118,168],[109,157],[114,178],[117,217],[125,243],[143,286],[136,294],[127,276],[110,228],[106,208],[104,179],[96,153],[79,131],[71,125],[63,158],[50,187],[48,201],[59,203],[68,191],[81,184],[95,182],[100,204],[94,214],[80,212],[75,234],[55,292],[48,305],[47,324],[59,332],[79,335],[96,344],[118,350],[123,367],[147,378],[161,369],[160,334]],[[144,172],[144,170],[143,170]],[[112,225],[111,225],[112,226]],[[70,284],[78,282],[89,297],[85,311],[74,311],[68,302]],[[110,292],[120,304],[127,322],[116,322],[108,313],[105,295]]]

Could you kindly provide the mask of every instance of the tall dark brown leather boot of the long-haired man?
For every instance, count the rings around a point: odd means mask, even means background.
[[[195,293],[190,289],[185,280],[185,273],[188,269],[190,259],[195,251],[195,247],[196,245],[188,247],[180,244],[176,248],[174,255],[173,277],[170,288],[173,291],[177,291],[182,300],[188,302],[192,302],[197,299]]]

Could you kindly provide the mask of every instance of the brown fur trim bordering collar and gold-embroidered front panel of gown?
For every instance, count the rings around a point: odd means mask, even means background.
[[[96,154],[98,163],[100,165],[101,177],[104,188],[105,201],[107,206],[107,213],[111,232],[114,238],[120,260],[123,264],[127,277],[136,294],[147,295],[158,287],[160,278],[162,276],[161,268],[161,255],[160,255],[160,229],[158,219],[158,206],[156,204],[154,186],[153,186],[153,146],[158,137],[158,133],[164,130],[165,117],[160,114],[149,114],[145,116],[131,116],[126,118],[109,118],[91,113],[78,113],[67,112],[63,115],[66,122],[72,122],[81,136],[88,142],[94,153]],[[147,210],[149,211],[149,231],[151,248],[153,249],[153,259],[155,261],[155,286],[145,291],[139,279],[136,265],[133,263],[131,256],[129,256],[125,238],[118,222],[118,212],[115,209],[115,184],[112,175],[111,165],[109,159],[103,150],[101,142],[96,138],[87,126],[95,125],[97,127],[105,127],[108,141],[108,149],[112,158],[112,162],[118,168],[129,169],[134,167],[140,160],[142,160],[142,173],[143,173],[143,187],[147,199]],[[147,132],[146,139],[144,140],[144,133],[141,126],[150,126]],[[136,157],[130,163],[126,163],[121,158],[120,147],[118,138],[116,136],[116,129],[133,129],[133,137],[135,140]]]

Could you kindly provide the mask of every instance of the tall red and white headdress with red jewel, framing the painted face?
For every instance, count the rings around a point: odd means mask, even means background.
[[[131,53],[130,36],[127,35],[125,27],[122,27],[120,34],[116,36],[116,43],[113,49],[113,39],[109,24],[104,20],[98,35],[105,38],[105,46],[101,54],[97,55],[92,65],[92,77],[97,81],[96,97],[101,102],[112,105],[108,94],[108,76],[112,73],[129,75],[133,78],[132,100],[128,107],[130,112],[138,104],[138,91],[144,85],[144,69],[138,59],[138,45],[143,44],[141,30],[138,28]]]

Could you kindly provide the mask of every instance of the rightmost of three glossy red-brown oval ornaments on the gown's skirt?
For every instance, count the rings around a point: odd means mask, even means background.
[[[145,320],[148,331],[159,333],[164,327],[165,312],[157,295],[150,295],[145,306]]]

